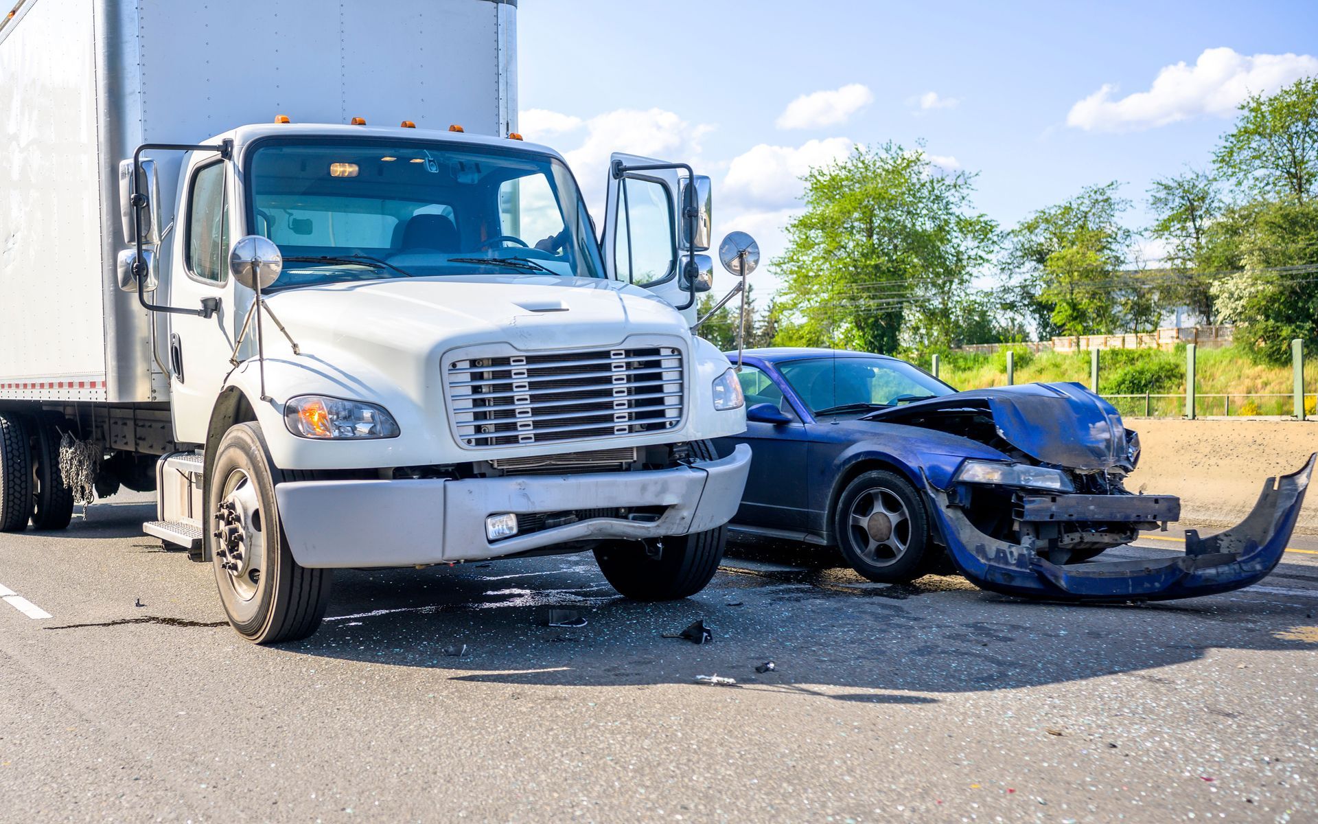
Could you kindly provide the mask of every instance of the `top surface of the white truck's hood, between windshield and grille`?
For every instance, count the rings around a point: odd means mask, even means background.
[[[605,347],[634,334],[689,338],[667,302],[600,278],[463,276],[303,286],[268,303],[294,340],[430,351],[494,340],[519,349]],[[266,340],[273,338],[266,335]]]

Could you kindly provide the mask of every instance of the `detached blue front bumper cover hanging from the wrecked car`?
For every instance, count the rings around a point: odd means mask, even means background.
[[[1264,481],[1253,510],[1236,526],[1201,538],[1185,531],[1185,554],[1054,564],[1032,547],[981,533],[942,490],[927,484],[953,562],[973,584],[1052,601],[1165,601],[1230,592],[1257,583],[1277,566],[1296,527],[1318,454],[1290,475]]]

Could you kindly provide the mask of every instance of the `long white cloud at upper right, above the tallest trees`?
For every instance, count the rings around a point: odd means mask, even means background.
[[[1302,76],[1318,74],[1310,54],[1239,54],[1234,49],[1205,49],[1193,66],[1184,61],[1164,66],[1148,91],[1114,99],[1116,86],[1077,102],[1066,125],[1101,132],[1124,132],[1166,125],[1201,115],[1230,117],[1249,94],[1272,92]]]

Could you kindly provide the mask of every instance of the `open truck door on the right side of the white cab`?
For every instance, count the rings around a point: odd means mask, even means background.
[[[664,162],[616,153],[610,167],[616,161],[627,166]],[[610,174],[601,239],[605,268],[614,278],[648,289],[673,306],[689,299],[679,277],[685,260],[677,244],[684,178],[676,169],[634,171],[622,179]],[[683,315],[695,323],[696,307]]]

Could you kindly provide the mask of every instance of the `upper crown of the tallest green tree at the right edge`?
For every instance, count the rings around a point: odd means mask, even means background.
[[[1249,95],[1213,162],[1242,189],[1298,203],[1318,194],[1318,76]]]

